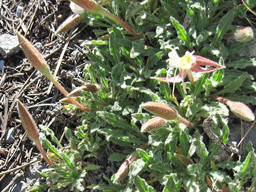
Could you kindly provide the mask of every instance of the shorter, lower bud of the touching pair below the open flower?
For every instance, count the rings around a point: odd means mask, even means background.
[[[162,117],[154,117],[143,124],[143,126],[141,127],[141,132],[145,133],[156,129],[160,129],[165,124],[166,120],[164,120]]]

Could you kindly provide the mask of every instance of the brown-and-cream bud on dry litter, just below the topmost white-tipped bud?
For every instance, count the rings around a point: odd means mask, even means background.
[[[66,30],[69,30],[72,27],[75,27],[81,21],[82,21],[82,17],[79,14],[69,16],[62,24],[60,24],[60,26],[58,27],[54,35],[58,33],[63,33]]]

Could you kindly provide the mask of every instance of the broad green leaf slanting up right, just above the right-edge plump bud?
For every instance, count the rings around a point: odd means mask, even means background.
[[[215,95],[222,95],[225,93],[234,93],[236,90],[240,88],[243,81],[247,78],[247,73],[243,73],[243,75],[239,76],[238,78],[234,79],[229,84],[225,85],[221,91],[216,92]]]

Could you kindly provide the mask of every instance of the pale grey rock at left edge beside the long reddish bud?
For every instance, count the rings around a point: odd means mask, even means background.
[[[20,51],[18,37],[16,35],[3,34],[0,35],[0,54],[5,58],[11,54]]]

